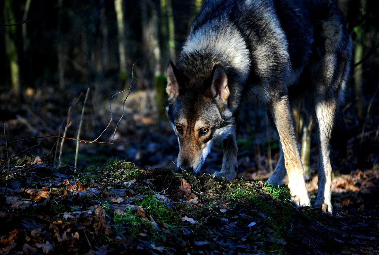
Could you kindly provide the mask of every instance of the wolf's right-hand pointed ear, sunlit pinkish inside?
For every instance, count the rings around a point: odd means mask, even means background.
[[[216,65],[213,68],[212,84],[205,95],[211,96],[217,102],[227,104],[229,97],[228,77],[221,65]]]

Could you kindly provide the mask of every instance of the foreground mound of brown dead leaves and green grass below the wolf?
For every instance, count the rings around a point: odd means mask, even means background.
[[[377,207],[364,200],[377,192],[378,168],[334,179],[332,215],[297,209],[287,188],[262,181],[115,160],[80,172],[36,158],[17,169],[0,181],[0,254],[379,252]]]

